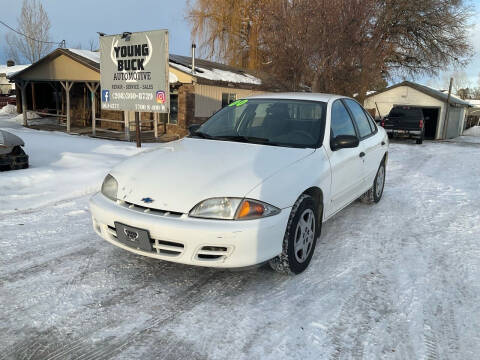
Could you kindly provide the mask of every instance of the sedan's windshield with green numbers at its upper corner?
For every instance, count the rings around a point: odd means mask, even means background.
[[[318,147],[327,104],[278,99],[238,100],[213,115],[193,136],[272,146]]]

